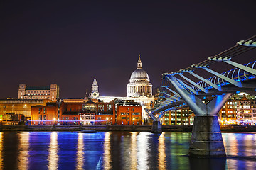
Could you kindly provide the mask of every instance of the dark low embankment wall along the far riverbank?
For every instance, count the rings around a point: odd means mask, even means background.
[[[162,125],[163,132],[191,132],[192,125]],[[151,132],[152,125],[0,125],[0,132],[14,131],[129,131]],[[223,125],[222,132],[256,132],[256,126]]]

